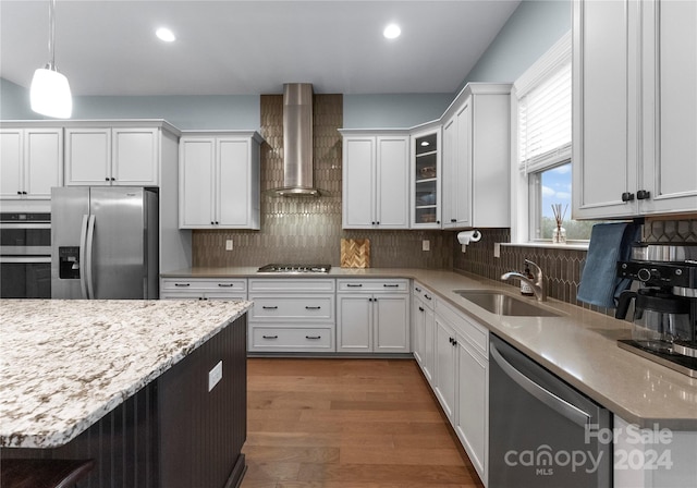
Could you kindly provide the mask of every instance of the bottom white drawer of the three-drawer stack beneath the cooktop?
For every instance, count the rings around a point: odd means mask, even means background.
[[[249,351],[333,351],[331,327],[252,327]]]

